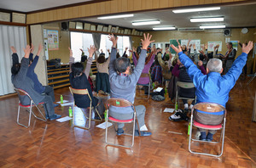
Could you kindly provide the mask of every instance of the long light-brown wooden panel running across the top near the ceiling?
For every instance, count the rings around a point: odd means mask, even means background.
[[[117,14],[132,11],[143,11],[160,8],[173,8],[189,5],[204,5],[214,3],[243,2],[245,0],[112,0],[101,3],[91,3],[77,7],[53,9],[44,12],[27,14],[27,24],[38,24],[57,20],[72,20],[104,14]],[[249,1],[249,0],[247,0]]]

